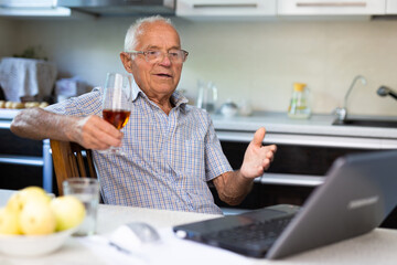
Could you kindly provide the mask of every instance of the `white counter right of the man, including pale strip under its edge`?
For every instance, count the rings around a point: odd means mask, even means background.
[[[312,115],[310,119],[291,119],[286,113],[254,113],[248,117],[212,116],[221,140],[250,141],[254,131],[265,127],[265,142],[352,147],[371,149],[396,149],[397,129],[380,127],[335,126],[333,115]],[[350,118],[386,117],[350,116]],[[387,117],[395,119],[397,117]]]

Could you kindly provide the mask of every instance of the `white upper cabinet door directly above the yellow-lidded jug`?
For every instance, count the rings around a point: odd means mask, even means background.
[[[384,14],[386,0],[278,0],[280,15]]]

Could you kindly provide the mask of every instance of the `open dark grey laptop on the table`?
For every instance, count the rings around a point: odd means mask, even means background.
[[[303,206],[280,204],[173,227],[176,236],[276,259],[365,234],[397,204],[397,151],[337,158]]]

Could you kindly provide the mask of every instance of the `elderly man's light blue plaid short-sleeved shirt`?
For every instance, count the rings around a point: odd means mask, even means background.
[[[46,110],[101,116],[101,88]],[[221,214],[207,181],[232,171],[211,117],[175,92],[169,115],[136,83],[131,116],[122,129],[122,155],[94,151],[105,203]]]

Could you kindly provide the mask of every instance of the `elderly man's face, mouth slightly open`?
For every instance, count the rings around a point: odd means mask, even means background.
[[[136,51],[160,51],[164,54],[158,62],[147,62],[144,55],[137,54],[130,70],[138,86],[149,98],[171,96],[181,77],[182,63],[171,62],[169,51],[181,49],[178,32],[164,22],[144,24],[138,36]],[[126,66],[126,64],[125,64]]]

